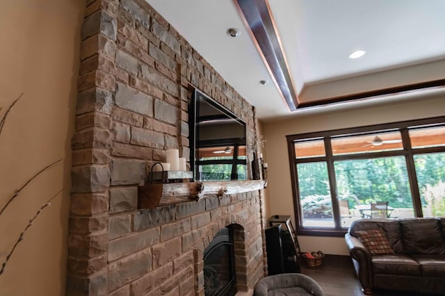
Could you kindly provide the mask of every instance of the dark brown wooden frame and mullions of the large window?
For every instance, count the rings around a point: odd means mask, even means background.
[[[426,148],[412,148],[410,142],[409,129],[422,126],[445,126],[445,116],[433,117],[423,120],[408,120],[403,122],[393,122],[388,124],[374,124],[370,126],[359,126],[348,129],[334,129],[330,131],[321,131],[314,133],[301,133],[296,135],[286,135],[287,146],[289,152],[289,167],[291,170],[291,187],[293,195],[293,209],[296,217],[296,231],[299,235],[304,236],[344,236],[347,229],[341,227],[341,217],[339,211],[339,204],[337,199],[337,183],[335,178],[334,162],[342,160],[354,159],[370,159],[380,158],[385,156],[404,156],[407,165],[408,180],[410,181],[410,190],[412,193],[412,204],[414,208],[415,217],[423,217],[421,196],[417,183],[416,170],[414,166],[414,155],[429,154],[437,152],[445,152],[445,147],[426,147]],[[367,133],[378,133],[384,131],[400,131],[403,149],[391,151],[372,151],[357,154],[341,154],[332,155],[332,146],[330,144],[331,138],[338,135],[362,135]],[[309,158],[296,158],[295,142],[298,140],[309,139],[323,139],[325,144],[325,156],[316,156]],[[300,190],[298,188],[298,163],[312,163],[323,161],[327,164],[327,174],[330,183],[332,215],[334,216],[334,228],[332,227],[304,227],[302,226],[302,213],[300,207]]]

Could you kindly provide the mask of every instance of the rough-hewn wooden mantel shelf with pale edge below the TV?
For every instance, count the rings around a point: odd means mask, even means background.
[[[206,195],[232,195],[266,188],[267,180],[154,183],[138,186],[138,208],[193,202]]]

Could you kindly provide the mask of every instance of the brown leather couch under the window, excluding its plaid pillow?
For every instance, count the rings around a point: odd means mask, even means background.
[[[381,229],[394,254],[371,255],[357,231]],[[445,218],[357,220],[345,235],[365,294],[375,289],[445,295]]]

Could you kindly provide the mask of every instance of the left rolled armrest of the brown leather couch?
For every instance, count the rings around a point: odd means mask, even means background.
[[[371,254],[363,245],[363,242],[351,236],[349,233],[345,234],[346,246],[349,249],[349,254],[353,258],[355,272],[362,284],[365,293],[370,293],[373,288],[373,271],[371,268]]]

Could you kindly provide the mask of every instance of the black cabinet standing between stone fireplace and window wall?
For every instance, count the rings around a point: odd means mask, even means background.
[[[300,272],[300,247],[295,233],[292,232],[290,216],[275,215],[268,222],[270,224],[270,227],[266,229],[268,274]],[[282,229],[282,224],[286,226],[286,229]]]

